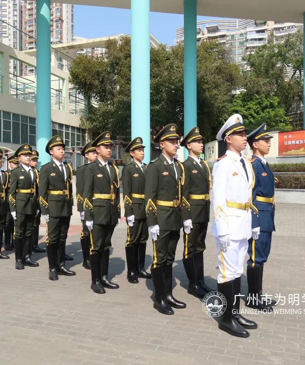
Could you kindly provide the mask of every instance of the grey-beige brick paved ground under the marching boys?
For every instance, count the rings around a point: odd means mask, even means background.
[[[173,316],[153,309],[151,280],[139,284],[126,280],[124,219],[112,240],[110,277],[120,289],[97,295],[90,289],[90,271],[82,267],[79,215],[72,216],[67,253],[74,257],[67,267],[76,276],[48,279],[46,254],[33,254],[40,267],[14,269],[1,260],[0,364],[93,365],[93,364],[276,364],[305,363],[305,207],[278,204],[277,232],[270,260],[264,269],[264,291],[281,293],[286,304],[279,309],[298,309],[302,314],[252,314],[259,328],[247,339],[218,330],[217,322],[202,310],[199,299],[186,292],[180,240],[174,266],[174,295],[186,302]],[[41,228],[45,234],[45,228]],[[44,237],[41,237],[44,246]],[[207,237],[205,272],[216,289],[217,256],[214,239]],[[149,267],[152,247],[148,243]],[[242,292],[246,294],[246,277]],[[289,303],[289,294],[299,305]],[[291,298],[290,298],[291,299]],[[297,299],[297,298],[295,298]],[[303,302],[302,302],[303,301]]]

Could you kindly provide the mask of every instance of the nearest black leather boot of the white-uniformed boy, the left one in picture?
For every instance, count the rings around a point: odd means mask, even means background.
[[[218,283],[217,289],[226,299],[226,309],[219,319],[218,328],[232,336],[249,337],[249,332],[238,323],[235,315],[232,313],[234,303],[233,280]]]

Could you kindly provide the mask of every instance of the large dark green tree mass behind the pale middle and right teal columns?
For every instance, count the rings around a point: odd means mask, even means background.
[[[70,67],[70,81],[98,107],[89,107],[82,126],[108,129],[130,137],[130,38],[108,41],[106,57],[79,56]],[[228,50],[216,42],[201,43],[197,51],[198,120],[205,141],[214,138],[241,84],[239,67],[230,63]],[[150,50],[150,124],[174,122],[183,132],[183,45]]]

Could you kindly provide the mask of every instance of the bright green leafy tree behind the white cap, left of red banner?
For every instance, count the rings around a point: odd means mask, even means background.
[[[247,99],[247,94],[242,93],[234,98],[228,116],[235,113],[243,116],[244,125],[249,132],[262,123],[267,123],[268,130],[292,129],[289,118],[286,116],[285,110],[279,106],[279,99],[276,96],[259,95],[254,99]]]

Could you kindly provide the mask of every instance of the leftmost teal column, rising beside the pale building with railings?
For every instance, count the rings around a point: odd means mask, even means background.
[[[44,165],[50,161],[45,148],[51,138],[50,0],[37,0],[36,19],[36,147]]]

